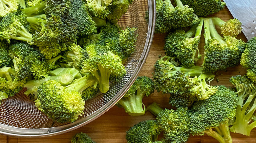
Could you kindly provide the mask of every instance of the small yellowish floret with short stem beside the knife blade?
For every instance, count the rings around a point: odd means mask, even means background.
[[[242,23],[236,18],[229,19],[227,22],[218,17],[213,17],[212,20],[215,25],[221,27],[221,34],[223,36],[237,37],[242,31]]]

